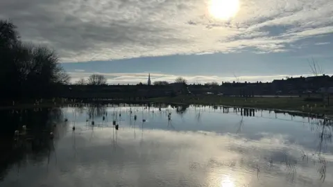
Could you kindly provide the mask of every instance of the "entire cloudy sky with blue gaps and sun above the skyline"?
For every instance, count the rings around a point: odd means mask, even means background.
[[[332,0],[12,0],[0,19],[49,46],[72,80],[240,80],[333,72]]]

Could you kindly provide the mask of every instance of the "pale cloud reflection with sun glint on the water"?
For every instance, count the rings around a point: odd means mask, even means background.
[[[85,123],[78,124],[78,127],[84,128]],[[283,134],[266,134],[261,139],[253,140],[235,134],[214,132],[176,132],[145,128],[142,135],[141,131],[136,133],[137,135],[129,127],[121,127],[117,143],[112,145],[114,138],[112,129],[108,127],[94,132],[93,141],[90,131],[81,132],[76,137],[76,149],[80,153],[78,157],[84,163],[81,165],[68,161],[68,158],[74,157],[71,151],[73,145],[68,143],[73,138],[71,135],[65,136],[58,143],[57,152],[61,154],[57,159],[58,163],[66,163],[71,172],[68,172],[67,177],[53,177],[53,184],[75,186],[72,179],[76,176],[91,181],[83,182],[81,186],[89,186],[92,182],[102,186],[120,180],[124,186],[221,186],[226,176],[230,176],[227,179],[232,181],[232,186],[278,187],[284,183],[324,187],[332,184],[332,154],[321,155],[327,162],[323,182],[318,172],[321,163],[314,150],[290,143]],[[110,151],[111,149],[114,150]],[[308,155],[305,160],[302,160],[303,152]],[[273,162],[270,163],[271,161]],[[287,161],[297,162],[294,172],[290,169],[293,163],[289,163],[288,167]],[[51,172],[58,174],[57,167],[50,168]],[[46,177],[28,177],[22,177],[22,181],[30,179],[35,184],[47,184]],[[35,179],[36,177],[39,178]]]

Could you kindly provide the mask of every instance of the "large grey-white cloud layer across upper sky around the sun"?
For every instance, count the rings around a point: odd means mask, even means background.
[[[332,33],[333,1],[243,0],[228,21],[208,15],[210,0],[17,0],[0,18],[22,39],[55,48],[64,62],[172,54],[288,51],[287,44]]]

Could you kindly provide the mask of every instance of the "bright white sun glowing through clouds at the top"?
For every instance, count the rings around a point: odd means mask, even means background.
[[[239,10],[239,0],[210,0],[209,11],[216,19],[230,19]]]

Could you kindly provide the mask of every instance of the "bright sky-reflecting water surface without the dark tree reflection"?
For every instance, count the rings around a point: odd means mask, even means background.
[[[303,118],[277,116],[280,121],[268,112],[263,112],[267,118],[242,117],[208,108],[198,121],[198,109],[189,107],[182,116],[172,114],[171,130],[163,111],[153,116],[137,109],[134,125],[122,108],[118,131],[112,124],[92,127],[84,113],[75,119],[67,114],[69,124],[58,125],[65,133],[54,140],[54,149],[26,151],[6,168],[1,186],[333,185],[332,143],[318,139],[331,127],[316,130],[295,122],[307,124]],[[106,111],[105,121],[112,122],[114,109]],[[96,124],[102,116],[94,118]],[[71,133],[73,121],[76,133]]]

